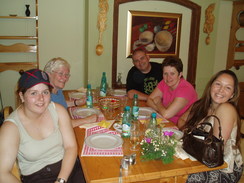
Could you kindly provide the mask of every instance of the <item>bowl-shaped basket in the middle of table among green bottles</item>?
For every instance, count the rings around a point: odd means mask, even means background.
[[[102,97],[99,107],[107,120],[113,120],[120,112],[120,99],[116,97]]]

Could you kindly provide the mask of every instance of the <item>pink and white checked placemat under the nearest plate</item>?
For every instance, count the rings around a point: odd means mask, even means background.
[[[102,128],[100,126],[94,126],[86,129],[85,138],[90,135],[98,134],[98,133],[109,133],[109,134],[120,136],[120,134],[116,131],[112,131],[107,128]],[[113,149],[96,149],[84,143],[81,156],[123,156],[123,149],[122,149],[122,145]]]

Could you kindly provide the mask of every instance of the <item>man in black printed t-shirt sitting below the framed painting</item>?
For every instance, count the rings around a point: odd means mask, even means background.
[[[150,57],[144,50],[133,52],[134,66],[129,70],[126,78],[126,91],[130,99],[138,94],[139,100],[147,100],[157,84],[162,80],[162,66],[149,62]]]

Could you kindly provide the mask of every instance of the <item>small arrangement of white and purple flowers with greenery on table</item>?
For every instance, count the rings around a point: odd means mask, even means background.
[[[174,132],[164,131],[163,134],[153,129],[147,129],[145,138],[141,141],[142,160],[161,159],[164,164],[171,163],[174,158],[175,148],[178,140]]]

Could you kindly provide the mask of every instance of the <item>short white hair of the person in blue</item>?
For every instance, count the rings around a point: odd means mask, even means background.
[[[47,62],[44,67],[44,71],[47,73],[51,73],[52,71],[59,69],[60,67],[67,67],[70,69],[70,64],[61,57],[56,57]]]

